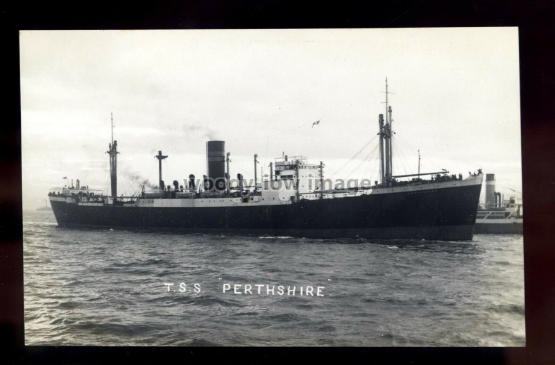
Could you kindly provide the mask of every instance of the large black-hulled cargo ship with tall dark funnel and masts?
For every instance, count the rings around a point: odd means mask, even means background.
[[[442,170],[393,175],[393,119],[378,115],[379,180],[332,186],[324,164],[282,155],[270,176],[231,178],[225,141],[206,142],[207,172],[165,185],[159,151],[157,189],[117,195],[117,141],[108,145],[111,194],[76,185],[53,188],[49,200],[60,227],[179,230],[214,234],[311,238],[471,240],[482,184],[481,170],[463,178]],[[113,123],[112,123],[113,126]],[[420,167],[419,167],[420,170]],[[426,178],[427,177],[427,178]],[[363,180],[364,182],[364,180]]]

